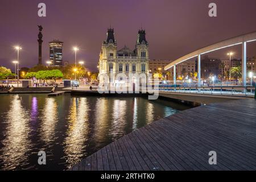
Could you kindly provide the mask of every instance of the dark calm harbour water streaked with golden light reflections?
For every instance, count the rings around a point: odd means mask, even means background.
[[[157,119],[189,109],[130,97],[0,95],[0,169],[67,169]],[[38,165],[46,151],[47,165]]]

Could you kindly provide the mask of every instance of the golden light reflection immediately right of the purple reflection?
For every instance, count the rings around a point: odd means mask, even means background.
[[[42,113],[41,137],[46,144],[55,140],[55,127],[58,122],[57,103],[55,98],[46,98]]]

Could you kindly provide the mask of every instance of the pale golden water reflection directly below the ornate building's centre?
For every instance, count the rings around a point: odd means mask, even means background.
[[[110,129],[110,135],[113,139],[125,133],[125,126],[127,124],[127,101],[126,100],[114,100],[112,123]]]

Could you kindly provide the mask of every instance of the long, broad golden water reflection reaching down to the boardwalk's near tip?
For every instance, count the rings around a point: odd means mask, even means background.
[[[64,152],[67,155],[68,167],[73,166],[84,156],[85,142],[89,134],[89,105],[86,98],[81,97],[76,104],[77,98],[72,99],[69,111],[68,136],[65,139]]]

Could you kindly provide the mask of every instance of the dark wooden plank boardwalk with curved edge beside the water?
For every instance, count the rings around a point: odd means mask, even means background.
[[[217,165],[209,165],[209,151]],[[119,138],[70,170],[256,170],[256,100],[181,111]]]

